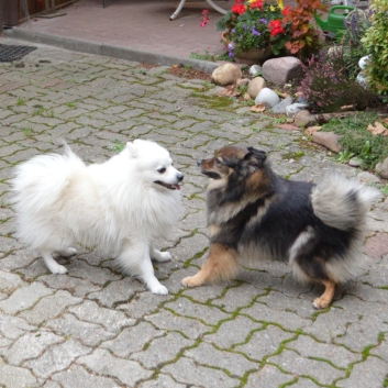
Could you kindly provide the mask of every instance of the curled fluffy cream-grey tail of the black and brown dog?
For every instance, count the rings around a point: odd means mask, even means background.
[[[372,202],[379,196],[377,189],[334,174],[314,187],[311,202],[324,224],[342,231],[363,230]]]

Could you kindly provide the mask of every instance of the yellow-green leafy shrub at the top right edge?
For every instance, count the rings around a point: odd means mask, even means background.
[[[365,70],[368,86],[388,100],[388,1],[374,0],[372,25],[362,43],[370,54]]]

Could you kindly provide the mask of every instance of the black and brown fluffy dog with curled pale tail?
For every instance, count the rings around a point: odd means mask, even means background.
[[[239,263],[277,259],[302,281],[324,285],[313,301],[326,308],[339,284],[353,278],[362,258],[365,218],[378,190],[340,175],[319,185],[277,176],[267,155],[254,147],[226,146],[199,160],[212,180],[207,190],[210,251],[187,287],[230,279]]]

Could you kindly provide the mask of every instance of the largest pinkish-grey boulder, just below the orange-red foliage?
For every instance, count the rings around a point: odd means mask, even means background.
[[[287,84],[303,75],[302,63],[292,56],[268,59],[263,65],[263,77],[276,85]]]

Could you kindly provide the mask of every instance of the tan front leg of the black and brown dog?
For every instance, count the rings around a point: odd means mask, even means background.
[[[231,279],[237,273],[237,252],[221,244],[210,246],[209,257],[201,270],[186,277],[181,284],[186,287],[202,286],[209,280]]]

